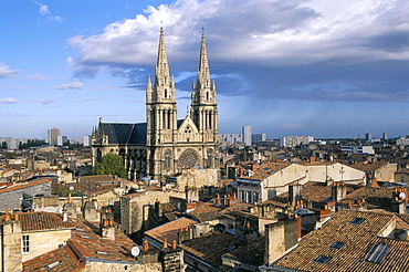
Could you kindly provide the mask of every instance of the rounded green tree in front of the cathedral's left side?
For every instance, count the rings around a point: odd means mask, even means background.
[[[112,175],[120,178],[127,178],[124,159],[116,154],[106,154],[101,163],[96,163],[93,169],[94,175]]]

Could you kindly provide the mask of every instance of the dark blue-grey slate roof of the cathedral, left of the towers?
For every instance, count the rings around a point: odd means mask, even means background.
[[[145,145],[146,123],[119,124],[102,123],[104,134],[112,145]]]

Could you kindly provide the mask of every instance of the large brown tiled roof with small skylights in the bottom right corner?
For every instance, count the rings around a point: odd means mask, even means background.
[[[365,220],[356,226],[354,218]],[[274,264],[302,271],[407,271],[409,268],[409,241],[378,237],[395,220],[394,215],[339,211],[322,227],[306,234],[298,247]],[[340,249],[332,249],[335,242],[344,242]],[[391,245],[380,263],[368,262],[365,255],[376,242]],[[325,264],[314,262],[319,255],[329,257]]]

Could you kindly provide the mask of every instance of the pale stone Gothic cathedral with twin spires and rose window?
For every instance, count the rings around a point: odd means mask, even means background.
[[[201,35],[197,79],[185,119],[177,119],[175,80],[170,77],[164,29],[160,28],[154,81],[146,85],[146,123],[103,123],[92,134],[93,165],[106,154],[124,158],[128,178],[165,176],[191,167],[219,167],[218,105],[210,79],[204,34]]]

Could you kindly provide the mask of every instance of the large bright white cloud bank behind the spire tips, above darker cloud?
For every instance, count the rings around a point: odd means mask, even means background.
[[[144,65],[156,54],[162,22],[168,52],[180,61],[197,51],[202,25],[213,60],[289,64],[339,57],[409,60],[408,50],[388,52],[368,42],[388,31],[409,31],[407,14],[402,0],[178,0],[149,6],[144,14],[114,22],[99,35],[73,36],[69,44],[81,52],[74,65]]]

